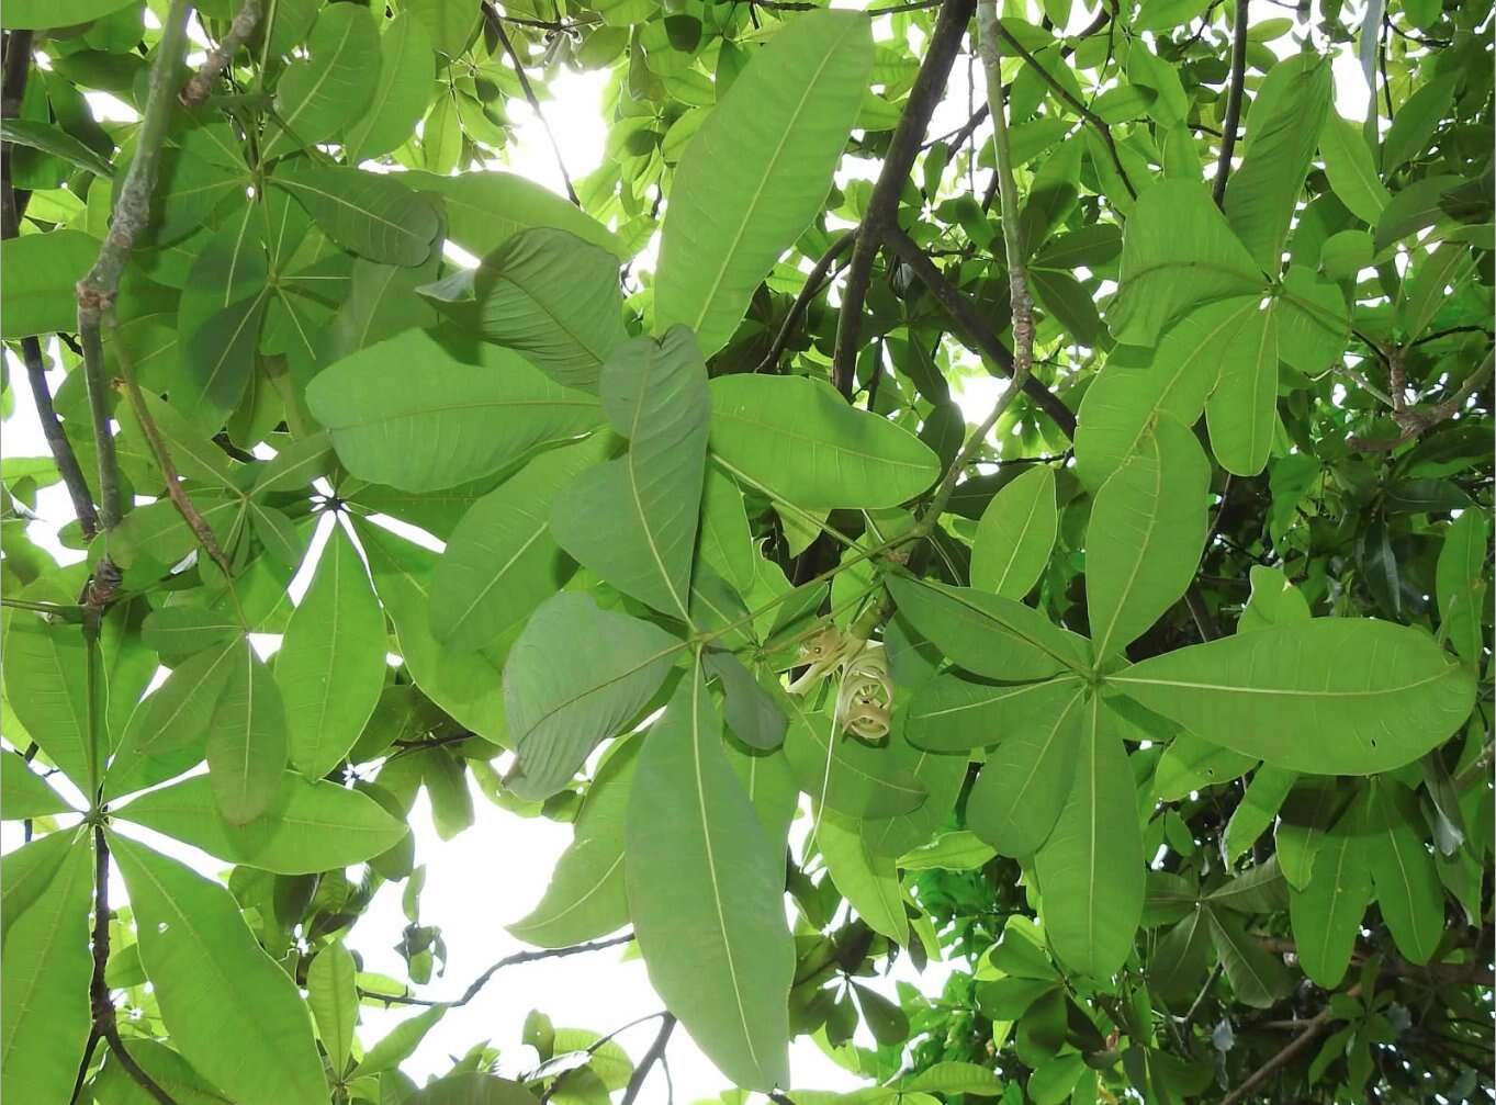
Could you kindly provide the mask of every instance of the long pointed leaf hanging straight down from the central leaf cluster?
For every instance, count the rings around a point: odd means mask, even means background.
[[[624,848],[634,932],[666,1006],[736,1086],[784,1086],[784,852],[727,763],[699,667],[645,734]]]

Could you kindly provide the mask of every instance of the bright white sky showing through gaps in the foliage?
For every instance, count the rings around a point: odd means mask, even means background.
[[[853,6],[838,1],[835,6]],[[860,6],[860,4],[859,4]],[[1252,19],[1278,18],[1284,9],[1266,0],[1254,0]],[[1074,22],[1079,28],[1089,16],[1077,4]],[[1284,51],[1291,46],[1287,36],[1272,43]],[[1334,60],[1336,103],[1342,115],[1352,120],[1364,118],[1367,87],[1354,52],[1343,51]],[[548,79],[554,99],[546,102],[546,120],[561,147],[571,179],[580,179],[594,170],[600,161],[606,126],[601,118],[600,99],[607,82],[606,73],[561,73]],[[951,96],[939,106],[931,124],[931,133],[939,135],[959,127],[966,118],[966,82],[957,73],[951,81]],[[981,70],[975,72],[975,96],[983,96]],[[115,102],[117,103],[117,102]],[[103,108],[103,105],[97,105]],[[123,105],[121,105],[123,106]],[[507,167],[518,169],[558,194],[564,194],[561,173],[546,141],[545,132],[528,105],[510,102],[510,117],[518,124],[516,142],[510,151]],[[103,112],[100,112],[103,114]],[[109,112],[118,117],[118,111]],[[49,380],[55,393],[63,374],[52,368]],[[34,405],[24,368],[12,357],[10,386],[15,389],[15,414],[3,426],[3,452],[6,456],[40,456],[46,446],[36,420]],[[957,402],[969,422],[980,420],[1001,390],[1001,381],[984,374],[969,377],[956,392]],[[69,501],[61,486],[46,487],[37,499],[39,519],[30,526],[31,538],[49,549],[63,562],[78,559],[78,553],[61,549],[55,534],[69,519]],[[314,550],[320,549],[326,525],[319,531]],[[305,586],[304,571],[298,580]],[[299,594],[296,595],[299,600]],[[66,789],[66,782],[63,784]],[[76,792],[70,797],[81,800]],[[426,884],[422,893],[422,923],[441,927],[447,947],[447,970],[422,993],[431,997],[455,996],[495,960],[525,948],[513,939],[503,926],[524,917],[539,900],[555,866],[557,857],[571,839],[570,825],[536,818],[524,819],[491,806],[474,795],[476,824],[450,842],[437,837],[431,827],[425,797],[417,801],[411,824],[416,830],[416,858],[426,866]],[[145,830],[129,828],[132,836],[148,839],[163,851],[171,852],[199,870],[221,873],[224,864],[196,849],[180,845]],[[799,833],[796,834],[799,837]],[[18,822],[0,827],[0,846],[9,851],[21,842]],[[349,947],[356,949],[368,970],[404,976],[404,963],[393,949],[399,942],[405,918],[399,896],[404,884],[386,885],[375,896],[365,917],[355,926]],[[124,900],[124,888],[114,878],[111,893],[115,902]],[[901,960],[895,978],[914,982],[926,994],[938,994],[944,985],[948,967],[932,963],[919,976]],[[893,979],[880,981],[877,988],[893,996]],[[631,1020],[655,1012],[660,999],[649,987],[643,963],[637,958],[622,961],[609,949],[588,955],[549,960],[528,966],[507,967],[488,984],[480,997],[465,1008],[450,1011],[431,1030],[425,1044],[402,1069],[419,1080],[443,1074],[452,1059],[464,1054],[482,1041],[491,1041],[503,1051],[501,1072],[519,1074],[536,1065],[531,1048],[521,1045],[521,1026],[531,1009],[540,1009],[552,1017],[557,1027],[588,1029],[598,1033],[610,1032]],[[380,1011],[365,1008],[361,1012],[359,1039],[365,1047],[375,1042],[384,1032],[413,1009],[395,1008]],[[645,1023],[624,1033],[619,1042],[637,1059],[654,1038],[657,1023]],[[860,1030],[859,1042],[871,1045],[866,1030]],[[726,1080],[700,1053],[684,1030],[678,1030],[669,1048],[670,1074],[675,1081],[675,1099],[690,1105],[702,1098],[715,1098],[729,1089]],[[862,1084],[808,1038],[794,1041],[791,1048],[793,1086],[796,1089],[856,1089]],[[640,1098],[643,1102],[663,1102],[664,1083],[658,1071]]]

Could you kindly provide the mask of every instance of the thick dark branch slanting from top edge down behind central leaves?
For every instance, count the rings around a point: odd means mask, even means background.
[[[920,142],[925,129],[929,126],[935,106],[945,96],[945,81],[950,69],[956,64],[960,52],[960,40],[966,34],[966,24],[975,0],[945,0],[941,4],[939,16],[935,19],[935,30],[931,34],[929,48],[925,51],[925,61],[914,78],[910,99],[899,117],[899,126],[893,132],[889,153],[883,160],[883,170],[872,185],[872,196],[868,200],[868,212],[863,215],[862,227],[857,230],[857,241],[851,251],[851,265],[847,269],[847,286],[842,290],[841,318],[836,326],[836,348],[832,354],[832,383],[847,399],[851,399],[853,386],[857,378],[857,353],[862,345],[862,308],[868,299],[868,287],[872,283],[872,262],[883,245],[884,232],[896,223],[899,211],[899,194],[904,191],[904,181],[908,179],[914,167],[914,158],[920,153]]]

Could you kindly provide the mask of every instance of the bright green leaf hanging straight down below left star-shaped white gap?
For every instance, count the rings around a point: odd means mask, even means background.
[[[384,688],[387,650],[364,561],[334,525],[275,653],[290,761],[307,778],[325,776],[359,739]]]

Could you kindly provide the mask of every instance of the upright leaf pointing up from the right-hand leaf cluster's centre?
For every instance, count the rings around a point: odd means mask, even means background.
[[[1188,589],[1204,549],[1209,487],[1210,464],[1194,434],[1161,414],[1097,492],[1086,529],[1097,656],[1125,649]]]

